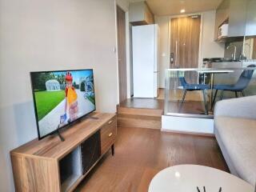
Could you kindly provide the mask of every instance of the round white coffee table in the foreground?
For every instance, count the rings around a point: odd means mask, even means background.
[[[156,174],[150,182],[149,192],[254,192],[254,187],[222,170],[208,166],[171,166]]]

